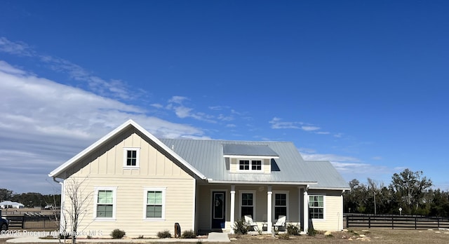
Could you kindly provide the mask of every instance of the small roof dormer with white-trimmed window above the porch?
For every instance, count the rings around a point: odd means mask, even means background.
[[[271,173],[272,159],[279,158],[267,145],[223,144],[230,172]]]

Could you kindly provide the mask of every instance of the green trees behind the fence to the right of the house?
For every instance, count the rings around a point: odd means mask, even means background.
[[[352,179],[349,187],[343,194],[346,213],[449,217],[449,192],[432,189],[422,171],[394,173],[388,186],[368,178],[367,184]]]

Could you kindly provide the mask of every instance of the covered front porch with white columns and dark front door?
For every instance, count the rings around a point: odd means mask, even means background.
[[[286,224],[309,228],[308,185],[288,184],[201,184],[196,187],[197,231],[233,233],[236,220],[253,217],[257,229],[272,233],[279,216]],[[307,208],[304,208],[307,206]]]

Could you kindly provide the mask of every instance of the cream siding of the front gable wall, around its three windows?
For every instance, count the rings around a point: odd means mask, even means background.
[[[123,168],[123,148],[127,147],[140,149],[139,168]],[[89,195],[86,215],[79,226],[81,233],[109,237],[111,231],[121,229],[128,237],[147,237],[168,230],[173,235],[176,222],[182,231],[194,229],[195,179],[133,129],[83,159],[72,168],[72,173],[70,178],[82,181],[83,194]],[[95,219],[98,187],[116,187],[115,219]],[[152,188],[165,189],[164,219],[145,218],[145,189]],[[69,204],[67,197],[65,204]]]

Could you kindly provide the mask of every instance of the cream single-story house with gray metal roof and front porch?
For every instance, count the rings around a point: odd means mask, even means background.
[[[304,231],[339,231],[349,190],[330,162],[305,161],[291,142],[158,139],[132,120],[48,176],[62,186],[67,222],[76,184],[86,213],[78,231],[90,236],[173,234],[175,223],[232,233],[244,215],[269,232],[282,215]]]

